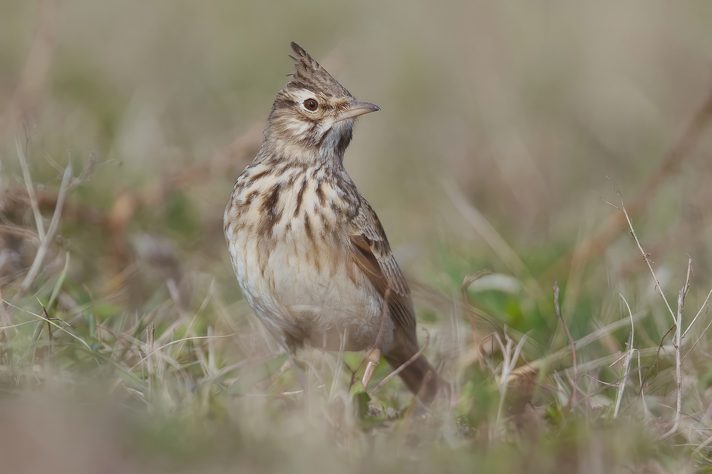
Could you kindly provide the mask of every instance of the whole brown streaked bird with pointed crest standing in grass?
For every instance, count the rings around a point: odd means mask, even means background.
[[[261,147],[237,179],[224,232],[241,291],[291,354],[377,350],[425,404],[443,381],[419,351],[407,282],[343,164],[360,102],[292,42]]]

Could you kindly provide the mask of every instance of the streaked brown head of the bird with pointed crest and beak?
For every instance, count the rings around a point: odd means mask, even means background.
[[[354,100],[303,48],[291,46],[295,72],[272,105],[265,144],[293,159],[342,159],[356,117],[380,108]]]

